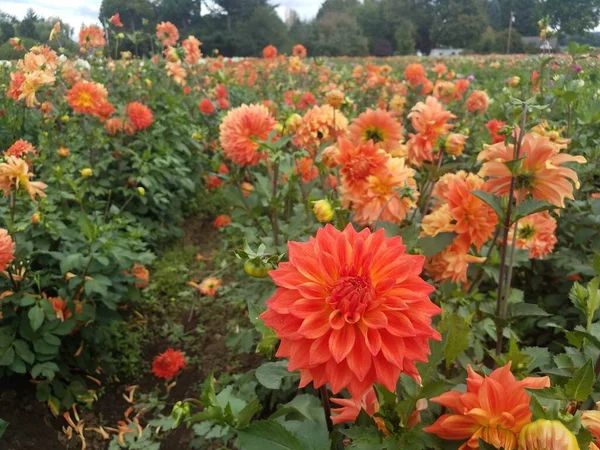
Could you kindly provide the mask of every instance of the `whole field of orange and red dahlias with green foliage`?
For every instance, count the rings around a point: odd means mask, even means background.
[[[151,38],[0,67],[1,448],[598,450],[596,55]]]

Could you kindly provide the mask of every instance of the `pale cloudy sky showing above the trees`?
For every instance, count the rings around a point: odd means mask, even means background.
[[[126,0],[123,0],[126,1]],[[28,8],[43,17],[59,16],[78,31],[82,23],[98,23],[102,0],[0,0],[0,10],[22,19]],[[278,4],[277,12],[285,18],[287,9],[295,9],[302,19],[311,19],[323,0],[271,0]]]

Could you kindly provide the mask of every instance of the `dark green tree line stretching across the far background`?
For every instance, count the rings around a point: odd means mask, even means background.
[[[106,23],[118,12],[129,34],[170,21],[182,36],[200,39],[207,54],[260,55],[268,44],[290,52],[300,43],[313,56],[388,56],[427,54],[434,47],[503,53],[511,11],[512,52],[527,50],[520,36],[538,35],[544,16],[562,42],[600,46],[600,33],[592,31],[600,22],[600,0],[325,0],[309,21],[293,11],[282,20],[269,0],[103,0],[99,19]],[[12,36],[45,41],[55,20],[30,11],[19,22],[0,13],[0,42]],[[120,48],[144,51],[150,44],[126,40]]]

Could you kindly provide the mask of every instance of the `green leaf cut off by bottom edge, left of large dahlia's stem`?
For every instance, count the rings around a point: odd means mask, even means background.
[[[296,436],[274,420],[259,420],[238,431],[243,450],[304,450]]]

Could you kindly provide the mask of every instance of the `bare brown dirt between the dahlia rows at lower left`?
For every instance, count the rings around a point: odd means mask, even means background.
[[[184,227],[183,243],[186,246],[198,248],[200,253],[210,254],[218,243],[218,232],[205,222],[197,219],[188,220]],[[168,302],[167,302],[168,304]],[[176,386],[169,393],[165,413],[170,411],[173,404],[184,398],[198,397],[197,387],[211,372],[218,374],[223,371],[246,371],[256,367],[260,359],[257,355],[233,354],[225,345],[227,323],[231,318],[239,316],[240,311],[226,304],[211,306],[208,315],[195,315],[188,322],[188,314],[181,314],[179,321],[186,330],[200,325],[205,332],[200,336],[201,342],[195,345],[197,349],[192,354],[197,361],[188,366],[177,378]],[[147,314],[146,326],[152,329],[164,323],[164,311],[153,311]],[[152,335],[152,332],[150,332]],[[150,341],[144,356],[152,357],[166,350],[170,344],[164,340]],[[190,354],[189,350],[185,349]],[[193,351],[193,350],[192,350]],[[235,368],[235,369],[232,369]],[[140,386],[141,392],[150,392],[160,383],[151,374],[141,380],[122,380],[104,386],[104,393],[91,410],[79,408],[79,414],[85,421],[86,427],[109,426],[116,427],[123,420],[125,410],[131,406],[123,398],[125,388],[133,384]],[[62,433],[65,422],[55,418],[48,407],[35,398],[35,389],[25,378],[10,378],[0,383],[0,418],[9,422],[8,429],[0,439],[1,450],[64,450],[80,449],[81,443],[74,437],[70,441]],[[109,440],[103,440],[93,431],[85,432],[87,450],[106,450]],[[180,427],[172,431],[161,443],[161,450],[185,450],[193,439],[193,432]]]

